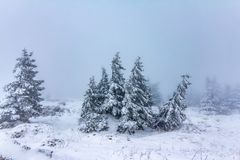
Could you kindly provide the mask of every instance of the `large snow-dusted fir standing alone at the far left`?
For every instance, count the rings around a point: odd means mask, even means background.
[[[28,122],[30,117],[41,115],[43,101],[41,92],[43,80],[36,80],[38,74],[37,65],[32,58],[33,53],[22,51],[22,56],[17,59],[13,70],[15,81],[5,86],[7,92],[4,109],[11,115],[11,120]]]

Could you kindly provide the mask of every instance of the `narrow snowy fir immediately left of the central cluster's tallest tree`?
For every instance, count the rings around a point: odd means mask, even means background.
[[[98,100],[100,105],[103,105],[105,100],[107,99],[109,88],[110,88],[110,84],[109,84],[108,74],[106,72],[106,69],[102,68],[102,78],[97,85]]]

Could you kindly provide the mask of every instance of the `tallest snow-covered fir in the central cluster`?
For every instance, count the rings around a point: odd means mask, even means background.
[[[119,53],[113,58],[111,68],[112,78],[110,80],[110,89],[103,108],[106,113],[112,114],[116,118],[120,118],[125,97],[125,79],[122,73],[125,68],[122,66]]]

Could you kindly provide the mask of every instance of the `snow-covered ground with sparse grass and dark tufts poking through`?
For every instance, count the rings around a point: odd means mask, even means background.
[[[189,119],[179,131],[129,136],[112,127],[84,134],[78,131],[79,106],[80,102],[68,102],[69,112],[61,117],[0,130],[0,155],[13,160],[240,160],[238,114],[205,116],[188,109]]]

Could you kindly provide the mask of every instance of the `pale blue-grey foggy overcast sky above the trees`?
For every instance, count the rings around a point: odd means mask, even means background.
[[[45,96],[82,98],[89,77],[121,53],[126,77],[137,56],[145,75],[172,93],[189,73],[240,83],[239,0],[0,0],[0,87],[21,50],[34,51]],[[1,92],[0,92],[1,93]]]

